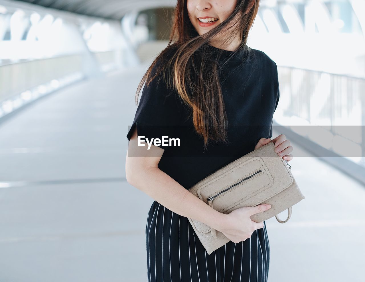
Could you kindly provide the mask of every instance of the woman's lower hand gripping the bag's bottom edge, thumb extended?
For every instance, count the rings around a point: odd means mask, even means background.
[[[269,204],[261,204],[235,209],[226,214],[225,219],[220,224],[220,228],[217,230],[222,232],[233,243],[245,241],[251,237],[256,229],[264,227],[263,221],[257,223],[251,220],[250,216],[270,208],[271,205]]]

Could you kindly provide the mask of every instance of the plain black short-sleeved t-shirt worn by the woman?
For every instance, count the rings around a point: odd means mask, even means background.
[[[209,48],[213,52],[220,50]],[[229,144],[211,140],[204,151],[203,138],[193,127],[191,109],[163,80],[157,83],[157,77],[143,88],[127,134],[130,140],[137,126],[138,135],[149,140],[162,136],[180,138],[180,146],[158,146],[165,150],[158,167],[186,189],[253,151],[259,139],[272,137],[272,117],[279,101],[276,63],[255,49],[224,50],[219,62],[223,66],[219,80]]]

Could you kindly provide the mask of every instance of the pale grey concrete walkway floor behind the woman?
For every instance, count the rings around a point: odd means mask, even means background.
[[[124,168],[145,70],[83,81],[0,123],[1,282],[147,281],[153,199],[126,182]],[[288,223],[266,221],[268,281],[364,281],[364,187],[314,157],[295,157],[303,154],[292,146],[306,199]]]

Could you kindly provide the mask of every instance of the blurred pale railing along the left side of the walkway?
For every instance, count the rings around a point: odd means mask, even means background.
[[[123,50],[93,52],[102,72],[122,67]],[[31,101],[88,77],[85,54],[20,60],[0,65],[0,118]]]

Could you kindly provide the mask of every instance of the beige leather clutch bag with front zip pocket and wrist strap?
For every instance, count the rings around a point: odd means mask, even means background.
[[[285,223],[292,206],[304,199],[289,168],[271,141],[208,175],[189,191],[225,214],[246,206],[270,204],[270,209],[252,215],[251,220],[261,222],[275,216],[277,221]],[[288,217],[281,221],[277,215],[286,209]],[[209,225],[188,219],[208,254],[230,241]]]

